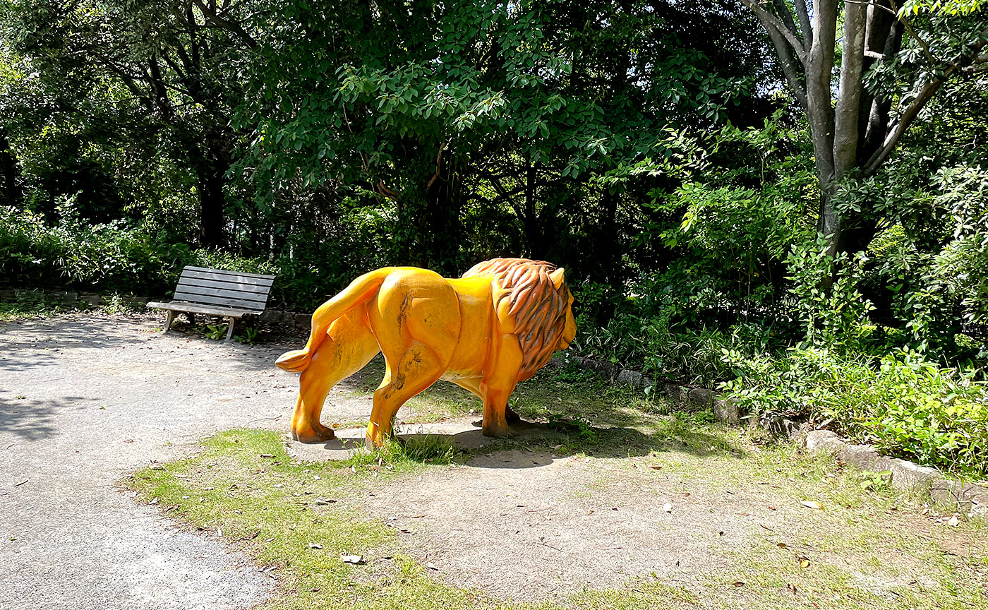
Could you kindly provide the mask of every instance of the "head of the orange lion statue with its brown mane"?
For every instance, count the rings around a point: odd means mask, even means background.
[[[570,305],[573,297],[566,287],[562,268],[527,258],[495,258],[477,263],[464,278],[493,276],[498,290],[495,310],[505,303],[514,317],[522,345],[520,382],[544,367],[552,353],[566,349],[576,336],[576,320]]]

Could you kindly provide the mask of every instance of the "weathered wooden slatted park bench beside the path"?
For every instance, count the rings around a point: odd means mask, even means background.
[[[186,267],[179,277],[175,296],[169,303],[149,303],[147,306],[167,309],[165,332],[172,327],[175,313],[182,311],[195,321],[196,313],[228,318],[226,340],[233,336],[233,324],[247,313],[261,313],[268,304],[268,294],[275,276],[259,273],[239,273],[205,267]]]

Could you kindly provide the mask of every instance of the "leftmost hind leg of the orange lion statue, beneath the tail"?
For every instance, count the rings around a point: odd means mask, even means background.
[[[379,351],[362,310],[349,312],[333,322],[329,336],[319,344],[298,380],[291,438],[303,443],[335,438],[333,429],[319,421],[326,395],[341,380],[366,367]]]

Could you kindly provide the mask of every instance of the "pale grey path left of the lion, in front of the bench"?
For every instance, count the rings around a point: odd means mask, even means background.
[[[116,483],[212,431],[288,430],[296,376],[273,363],[294,346],[155,326],[0,322],[0,609],[221,610],[272,590],[246,557],[176,529]],[[337,412],[360,416],[354,402]]]

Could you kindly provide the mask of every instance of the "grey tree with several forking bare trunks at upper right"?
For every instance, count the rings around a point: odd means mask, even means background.
[[[768,32],[806,113],[827,253],[863,250],[878,218],[866,203],[839,210],[833,195],[847,178],[875,175],[948,80],[983,70],[988,28],[980,2],[907,0],[900,7],[896,0],[815,0],[812,12],[806,0],[742,2]]]

